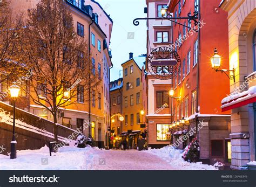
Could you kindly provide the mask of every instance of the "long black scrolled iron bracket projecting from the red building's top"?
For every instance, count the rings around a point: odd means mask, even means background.
[[[191,22],[193,21],[193,22],[194,22],[194,26],[197,26],[197,25],[198,25],[198,11],[197,11],[197,10],[198,10],[198,5],[195,6],[195,10],[196,10],[196,11],[194,11],[194,14],[193,14],[193,15],[191,15],[191,12],[187,13],[187,17],[172,17],[172,15],[169,14],[169,15],[167,15],[166,17],[136,18],[136,19],[133,20],[133,25],[138,26],[138,25],[139,25],[139,20],[151,20],[151,19],[155,19],[155,20],[159,20],[159,19],[160,19],[160,20],[170,20],[171,22],[177,23],[177,24],[179,24],[179,25],[183,25],[183,26],[187,27],[188,29],[192,29],[192,30],[198,32],[198,30],[195,29],[194,27],[191,28],[191,27],[189,27],[189,26],[187,26],[187,25],[184,25],[184,24],[181,24],[181,23],[179,23],[179,22],[176,22],[177,19],[187,19],[187,20],[188,20],[188,23],[191,24]]]

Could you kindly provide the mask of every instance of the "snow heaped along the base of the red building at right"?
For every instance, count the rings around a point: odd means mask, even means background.
[[[183,150],[175,149],[172,146],[166,146],[161,149],[145,150],[148,153],[159,156],[169,162],[173,167],[180,170],[218,170],[212,165],[203,164],[202,162],[190,163],[182,158]]]

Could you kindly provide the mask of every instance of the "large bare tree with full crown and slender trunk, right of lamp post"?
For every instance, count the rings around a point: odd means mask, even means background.
[[[58,109],[77,103],[78,96],[84,102],[89,100],[87,93],[100,79],[94,73],[87,41],[75,34],[64,1],[42,0],[29,10],[26,24],[20,56],[33,72],[28,94],[53,115],[57,141]]]

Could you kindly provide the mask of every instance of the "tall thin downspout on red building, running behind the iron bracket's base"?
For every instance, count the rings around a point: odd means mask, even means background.
[[[198,20],[200,21],[201,19],[201,11],[200,11],[200,8],[201,8],[201,1],[199,1],[198,3]],[[199,68],[199,65],[200,65],[200,36],[201,36],[201,31],[200,29],[198,30],[198,53],[197,53],[197,56],[198,56],[198,63],[197,63],[197,108],[196,108],[196,112],[199,113],[199,110],[198,110],[198,106],[199,106],[199,71],[200,71],[200,68]],[[198,115],[196,115],[195,117],[195,121],[196,121],[196,129],[198,130]],[[198,137],[198,133],[197,133],[197,137]]]

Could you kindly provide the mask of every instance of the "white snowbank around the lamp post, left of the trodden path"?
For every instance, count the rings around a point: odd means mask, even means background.
[[[64,146],[59,152],[49,155],[45,145],[39,150],[17,151],[17,158],[0,154],[1,170],[91,170],[98,162],[95,149],[90,146],[76,148]]]

